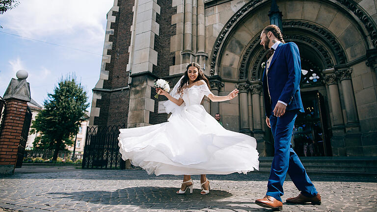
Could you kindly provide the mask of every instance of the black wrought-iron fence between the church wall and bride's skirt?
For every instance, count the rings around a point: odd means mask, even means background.
[[[88,127],[85,137],[82,168],[125,169],[119,153],[119,129],[125,125]]]

